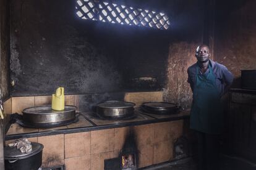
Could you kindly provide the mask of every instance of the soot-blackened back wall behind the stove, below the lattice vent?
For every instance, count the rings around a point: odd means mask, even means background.
[[[166,2],[147,6],[163,10]],[[161,90],[169,34],[82,20],[72,0],[12,0],[11,94],[52,94],[58,86],[66,94]]]

